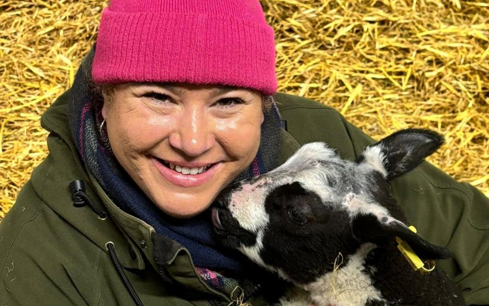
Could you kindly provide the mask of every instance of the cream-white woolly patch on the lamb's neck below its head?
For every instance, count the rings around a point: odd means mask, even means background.
[[[326,273],[311,284],[296,286],[309,291],[318,305],[365,305],[368,300],[384,300],[364,272],[365,257],[374,248],[375,244],[364,243],[336,272]],[[335,284],[334,288],[332,284]]]

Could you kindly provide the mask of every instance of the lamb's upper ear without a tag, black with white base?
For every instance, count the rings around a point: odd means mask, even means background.
[[[443,143],[443,137],[436,132],[401,130],[367,146],[359,162],[370,164],[390,180],[416,168]]]

